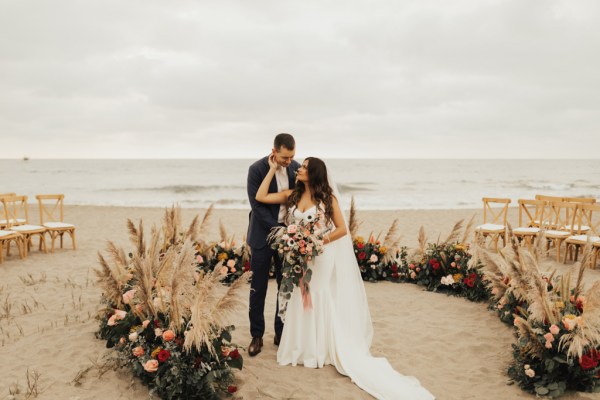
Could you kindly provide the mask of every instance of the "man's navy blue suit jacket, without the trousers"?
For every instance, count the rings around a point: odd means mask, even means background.
[[[296,170],[300,168],[297,161],[287,167],[287,174],[290,189],[293,189],[296,183]],[[248,225],[248,235],[246,242],[250,247],[257,249],[267,245],[267,236],[271,233],[271,228],[278,226],[277,217],[279,216],[280,204],[265,204],[256,201],[256,192],[265,176],[269,172],[269,157],[261,158],[248,169],[248,200],[250,200],[250,222]],[[277,180],[273,178],[269,185],[269,193],[277,193]]]

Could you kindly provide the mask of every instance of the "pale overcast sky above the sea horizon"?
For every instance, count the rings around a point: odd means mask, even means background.
[[[599,158],[600,1],[0,0],[0,158]]]

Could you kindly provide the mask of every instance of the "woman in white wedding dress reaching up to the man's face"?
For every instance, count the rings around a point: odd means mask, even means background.
[[[433,399],[416,378],[401,375],[385,358],[371,356],[373,325],[365,288],[325,163],[308,157],[298,169],[296,188],[279,193],[268,193],[278,167],[272,157],[269,166],[256,200],[287,204],[288,224],[322,215],[326,225],[324,251],[310,264],[313,306],[304,309],[296,287],[287,305],[277,362],[309,368],[333,364],[378,399]]]

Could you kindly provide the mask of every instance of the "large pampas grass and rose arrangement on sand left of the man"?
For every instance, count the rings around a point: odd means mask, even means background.
[[[166,210],[146,242],[142,221],[127,226],[134,250],[109,242],[98,254],[103,289],[98,338],[114,358],[163,399],[217,399],[237,390],[232,369],[243,359],[232,342],[232,312],[240,307],[243,274],[226,288],[224,275],[197,274],[197,217],[181,229],[179,209]]]

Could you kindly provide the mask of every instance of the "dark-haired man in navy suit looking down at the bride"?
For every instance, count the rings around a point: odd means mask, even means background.
[[[296,142],[294,137],[287,133],[275,136],[272,154],[279,164],[275,179],[269,186],[269,193],[276,193],[286,189],[293,189],[296,181],[296,170],[300,164],[294,161]],[[275,261],[275,276],[277,289],[281,284],[281,259],[275,250],[267,243],[267,236],[271,228],[284,225],[287,212],[285,204],[265,204],[256,201],[256,192],[263,179],[269,172],[269,156],[261,158],[248,169],[248,199],[250,200],[250,225],[246,242],[251,249],[250,268],[252,269],[252,284],[250,287],[250,334],[252,342],[248,346],[248,354],[255,356],[262,350],[263,334],[265,333],[265,297],[269,283],[269,269],[271,260]],[[277,308],[279,302],[277,302]],[[283,322],[275,310],[275,340],[279,345]]]

